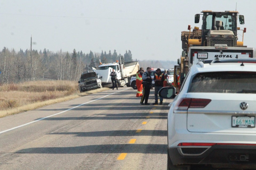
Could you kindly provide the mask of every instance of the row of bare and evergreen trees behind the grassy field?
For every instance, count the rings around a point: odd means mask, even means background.
[[[30,67],[30,52],[32,54]],[[102,63],[110,63],[119,61],[121,57],[122,62],[133,61],[130,50],[126,50],[125,54],[117,54],[114,50],[107,53],[84,53],[73,50],[70,52],[52,52],[44,49],[32,50],[20,49],[16,52],[14,49],[9,50],[4,47],[0,52],[0,84],[30,78],[49,78],[56,80],[78,80],[81,73],[85,70],[91,70],[92,67],[98,67],[99,60]]]

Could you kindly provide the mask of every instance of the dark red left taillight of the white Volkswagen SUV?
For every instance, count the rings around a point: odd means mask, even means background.
[[[181,98],[174,110],[187,110],[189,108],[204,108],[211,102],[211,99]]]

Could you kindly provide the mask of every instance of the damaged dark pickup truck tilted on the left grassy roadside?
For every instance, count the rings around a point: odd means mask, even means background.
[[[79,91],[84,92],[95,88],[102,88],[101,78],[98,77],[94,70],[84,71],[78,81]]]

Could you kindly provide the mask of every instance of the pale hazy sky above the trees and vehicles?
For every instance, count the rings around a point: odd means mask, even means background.
[[[254,0],[237,1],[237,11],[245,16],[245,24],[238,24],[247,29],[244,45],[254,48],[255,7]],[[38,51],[115,49],[123,55],[131,50],[134,60],[176,61],[181,31],[189,24],[201,28],[195,14],[235,9],[233,0],[0,0],[0,50],[30,49],[32,35],[32,49]]]

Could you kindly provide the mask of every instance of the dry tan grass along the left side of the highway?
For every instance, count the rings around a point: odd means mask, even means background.
[[[33,81],[0,86],[0,117],[86,96],[109,88],[80,93],[76,81]]]

